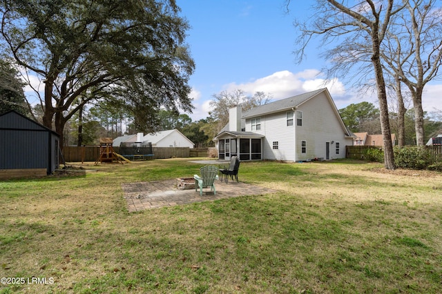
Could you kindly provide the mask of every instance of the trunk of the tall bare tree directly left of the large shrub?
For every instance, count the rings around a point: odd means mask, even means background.
[[[384,141],[384,166],[388,170],[394,170],[394,152],[392,144],[392,135],[390,131],[390,119],[388,117],[387,91],[385,90],[385,79],[380,57],[380,40],[378,37],[378,28],[375,25],[372,28],[373,55],[372,63],[374,75],[376,76],[376,88],[378,90],[379,112],[381,115],[381,130]]]

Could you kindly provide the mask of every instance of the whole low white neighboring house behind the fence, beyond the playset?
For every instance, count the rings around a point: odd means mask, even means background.
[[[113,140],[113,146],[133,146],[136,144],[151,143],[153,147],[189,147],[193,148],[195,144],[186,136],[182,135],[179,130],[162,130],[157,133],[144,135],[137,133],[137,135],[126,135],[117,137]]]

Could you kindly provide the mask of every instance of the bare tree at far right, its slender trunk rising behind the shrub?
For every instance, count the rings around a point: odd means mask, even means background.
[[[406,10],[392,21],[381,53],[386,70],[410,90],[416,144],[423,146],[422,95],[425,85],[437,77],[442,63],[442,10],[436,7],[435,0],[403,0],[403,3]]]

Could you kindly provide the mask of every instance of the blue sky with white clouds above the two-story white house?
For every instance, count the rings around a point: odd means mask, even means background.
[[[186,43],[195,61],[189,80],[195,109],[188,115],[193,121],[209,116],[213,95],[238,89],[247,95],[269,93],[276,101],[327,87],[338,109],[362,101],[378,106],[375,95],[355,92],[345,77],[325,81],[320,70],[326,61],[319,57],[318,42],[307,48],[302,63],[296,63],[293,21],[313,14],[312,1],[292,0],[289,12],[285,0],[176,2],[191,26]],[[441,81],[425,86],[425,111],[442,110],[441,93]]]

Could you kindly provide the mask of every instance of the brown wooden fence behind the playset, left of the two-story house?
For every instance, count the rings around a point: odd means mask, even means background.
[[[113,150],[119,153],[119,147],[114,147]],[[196,153],[191,155],[191,148],[189,147],[153,147],[153,159],[161,158],[188,158],[188,157],[206,157],[205,153],[199,149]],[[204,153],[204,155],[202,155]],[[96,161],[99,158],[99,146],[64,146],[63,157],[68,162],[79,161]]]

